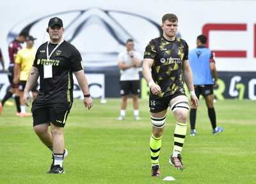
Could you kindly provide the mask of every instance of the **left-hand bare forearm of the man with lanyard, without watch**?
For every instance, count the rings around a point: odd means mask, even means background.
[[[24,89],[24,95],[23,95],[23,102],[25,105],[28,105],[28,100],[29,103],[31,103],[31,96],[29,95],[29,91],[35,86],[36,81],[38,80],[39,77],[39,70],[35,66],[32,66],[31,71],[28,75],[28,80],[26,82],[26,86]]]

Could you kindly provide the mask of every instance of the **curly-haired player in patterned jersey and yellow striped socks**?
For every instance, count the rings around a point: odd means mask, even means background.
[[[161,177],[159,153],[168,107],[176,118],[174,146],[169,163],[175,169],[184,169],[180,152],[186,137],[189,100],[186,96],[182,76],[191,95],[191,108],[197,108],[198,98],[193,86],[193,74],[188,62],[188,44],[176,37],[178,18],[167,13],[162,18],[163,36],[152,39],[144,52],[142,73],[150,88],[149,107],[152,122],[150,156],[152,176]]]

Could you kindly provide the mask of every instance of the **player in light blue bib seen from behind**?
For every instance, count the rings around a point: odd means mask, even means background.
[[[218,73],[215,66],[215,54],[205,47],[207,37],[204,34],[197,36],[196,48],[189,51],[189,65],[193,72],[193,83],[195,93],[199,99],[200,95],[204,96],[208,109],[208,116],[211,120],[212,134],[216,135],[223,131],[222,127],[216,125],[216,113],[214,110],[213,87],[218,85]],[[213,80],[212,80],[213,79]],[[196,135],[196,109],[190,110],[190,135]]]

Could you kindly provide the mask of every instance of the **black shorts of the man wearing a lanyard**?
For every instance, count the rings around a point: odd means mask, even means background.
[[[51,122],[57,127],[64,127],[72,102],[58,102],[45,104],[34,100],[31,112],[33,114],[33,126]]]

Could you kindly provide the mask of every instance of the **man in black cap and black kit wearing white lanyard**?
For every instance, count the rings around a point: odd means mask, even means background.
[[[74,45],[62,38],[65,31],[62,20],[53,17],[48,26],[50,40],[36,52],[23,100],[28,106],[28,102],[31,102],[29,91],[40,77],[40,89],[31,109],[33,127],[40,140],[52,151],[53,162],[48,173],[59,174],[65,173],[62,162],[67,157],[67,150],[64,148],[63,128],[73,103],[73,72],[84,94],[84,106],[90,109],[93,100],[84,75],[81,54]]]

